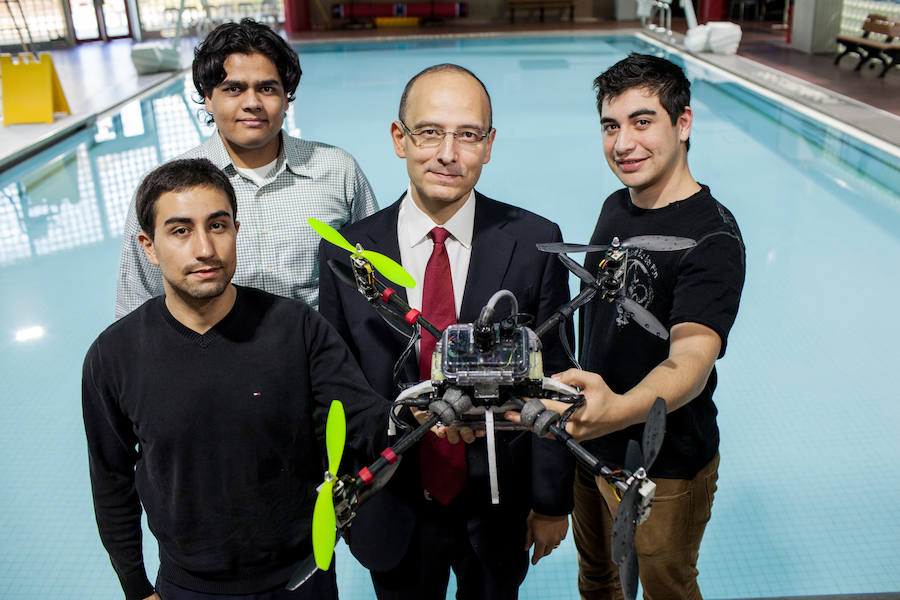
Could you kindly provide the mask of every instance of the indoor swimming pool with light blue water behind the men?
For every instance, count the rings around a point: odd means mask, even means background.
[[[486,83],[497,138],[478,189],[587,241],[619,187],[593,78],[631,35],[442,38],[299,48],[294,134],[356,156],[381,206],[406,188],[388,127],[421,68]],[[737,217],[741,311],[719,363],[722,466],[700,557],[709,598],[900,590],[900,151],[872,147],[693,59],[691,170]],[[189,80],[0,174],[0,597],[120,597],[93,520],[84,352],[112,318],[121,223],[142,173],[209,134]],[[37,336],[31,327],[42,327]],[[148,569],[155,569],[147,542]],[[345,599],[366,573],[339,553]],[[522,598],[575,598],[569,539]]]

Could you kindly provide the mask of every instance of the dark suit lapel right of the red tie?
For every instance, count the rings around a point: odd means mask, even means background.
[[[515,238],[503,230],[507,222],[503,207],[487,196],[475,194],[472,257],[459,310],[460,323],[474,322],[482,307],[500,289],[516,247]]]

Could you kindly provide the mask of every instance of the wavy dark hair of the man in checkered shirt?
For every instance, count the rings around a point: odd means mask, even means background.
[[[281,77],[287,101],[294,101],[294,92],[303,75],[297,53],[267,25],[253,19],[241,19],[240,23],[219,25],[194,48],[191,69],[200,103],[204,98],[212,97],[213,89],[225,81],[225,61],[232,54],[262,54],[271,60]],[[213,117],[209,115],[207,123],[212,122]]]

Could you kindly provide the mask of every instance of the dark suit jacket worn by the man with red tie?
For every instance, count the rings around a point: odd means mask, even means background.
[[[534,213],[491,200],[476,192],[472,256],[458,322],[474,322],[490,297],[508,289],[519,312],[535,317],[533,327],[569,300],[568,272],[552,254],[539,252],[539,242],[561,241],[559,227]],[[401,196],[402,200],[402,196]],[[400,261],[397,218],[400,200],[341,232],[353,244]],[[372,387],[388,400],[399,388],[394,363],[407,340],[382,321],[353,287],[338,280],[328,259],[349,264],[348,253],[327,242],[319,248],[319,311],[347,341]],[[405,288],[397,293],[406,298]],[[507,314],[505,303],[498,314]],[[428,315],[425,315],[427,318]],[[571,326],[568,330],[571,342]],[[546,375],[568,368],[556,330],[543,342]],[[418,382],[415,354],[406,361],[401,382]],[[527,431],[497,432],[500,504],[492,505],[485,438],[466,445],[467,486],[464,503],[470,540],[491,568],[521,564],[528,512],[564,515],[572,509],[574,462],[556,442]],[[387,571],[406,553],[418,511],[425,502],[419,477],[418,452],[403,456],[388,485],[360,507],[350,529],[350,549],[367,568]]]

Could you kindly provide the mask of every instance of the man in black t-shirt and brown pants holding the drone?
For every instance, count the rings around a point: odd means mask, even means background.
[[[569,431],[619,466],[627,441],[641,439],[653,401],[665,399],[666,436],[650,470],[656,498],[635,537],[638,565],[644,598],[700,598],[696,564],[718,479],[714,365],[737,315],[744,245],[734,217],[688,169],[693,112],[684,72],[665,59],[632,54],[594,87],[604,154],[626,187],[607,198],[591,244],[670,235],[697,245],[628,251],[625,293],[656,316],[668,340],[645,331],[618,303],[596,300],[581,321],[585,371],[557,378],[582,388],[586,398]],[[596,273],[601,259],[589,254],[586,268]],[[622,596],[610,559],[617,505],[604,480],[579,468],[572,530],[583,598]]]

